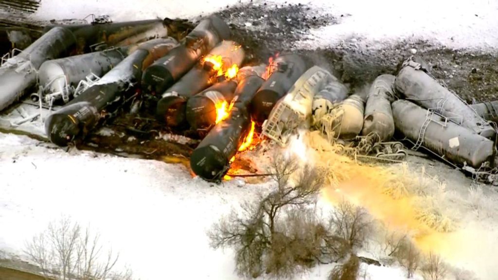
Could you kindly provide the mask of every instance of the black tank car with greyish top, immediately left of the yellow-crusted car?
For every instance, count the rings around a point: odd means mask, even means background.
[[[306,63],[297,54],[282,54],[274,60],[274,71],[258,90],[251,102],[251,117],[263,124],[278,100],[290,90],[292,85],[307,70]]]

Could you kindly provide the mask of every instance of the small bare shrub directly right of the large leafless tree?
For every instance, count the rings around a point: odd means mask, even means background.
[[[350,249],[363,246],[372,226],[367,211],[346,200],[338,205],[330,222],[335,228],[336,235],[346,240]]]

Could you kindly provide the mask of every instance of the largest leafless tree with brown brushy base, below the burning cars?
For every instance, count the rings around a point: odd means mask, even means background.
[[[208,232],[212,247],[234,247],[237,271],[250,277],[266,272],[283,278],[340,258],[336,253],[346,242],[333,236],[312,207],[323,185],[320,171],[310,166],[298,171],[295,161],[282,155],[272,168],[276,187],[244,203],[241,214],[233,211],[215,224]]]

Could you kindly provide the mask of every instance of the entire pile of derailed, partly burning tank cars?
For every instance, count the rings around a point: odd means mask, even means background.
[[[368,93],[350,94],[298,54],[244,65],[243,48],[230,38],[215,15],[179,41],[159,19],[47,26],[29,47],[2,58],[0,110],[29,94],[49,109],[62,104],[44,123],[48,139],[65,146],[132,98],[154,96],[159,123],[202,139],[190,162],[208,181],[223,178],[255,127],[280,145],[300,129],[318,130],[379,159],[404,158],[406,140],[466,170],[495,166],[498,102],[469,106],[418,58],[396,76],[378,76]]]

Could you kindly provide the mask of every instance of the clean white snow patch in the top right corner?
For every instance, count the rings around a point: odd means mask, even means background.
[[[437,42],[452,49],[498,49],[498,1],[420,0],[409,6],[396,0],[309,3],[341,22],[311,30],[311,37],[298,43],[300,47],[327,47],[357,38],[374,48],[404,39]]]

